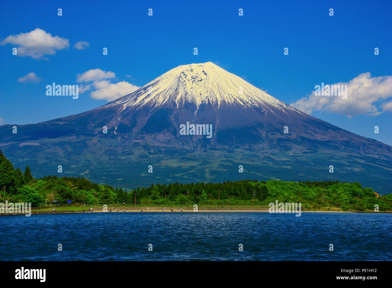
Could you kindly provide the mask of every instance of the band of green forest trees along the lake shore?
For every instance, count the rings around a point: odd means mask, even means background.
[[[22,172],[14,168],[0,150],[0,202],[115,204],[198,204],[198,205],[260,205],[270,202],[301,202],[308,210],[379,211],[392,210],[392,194],[379,196],[360,183],[339,181],[225,181],[223,183],[151,184],[134,190],[91,183],[85,178],[45,176],[35,179],[27,166]]]

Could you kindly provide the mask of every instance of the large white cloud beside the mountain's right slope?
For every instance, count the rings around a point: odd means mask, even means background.
[[[347,117],[377,116],[384,111],[392,110],[392,102],[388,100],[392,97],[392,76],[372,77],[370,72],[366,72],[349,82],[335,85],[347,85],[347,99],[341,99],[340,96],[316,96],[315,91],[312,91],[309,96],[290,105],[307,114],[325,111]]]

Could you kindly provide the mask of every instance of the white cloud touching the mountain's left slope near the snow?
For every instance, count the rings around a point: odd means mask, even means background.
[[[91,92],[91,98],[98,100],[105,99],[107,101],[116,100],[140,88],[125,81],[110,83],[107,80],[102,80],[94,82],[93,85],[96,91]]]

